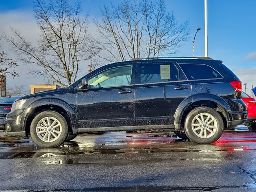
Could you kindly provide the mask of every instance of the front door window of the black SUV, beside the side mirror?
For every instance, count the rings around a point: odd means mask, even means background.
[[[130,85],[132,66],[114,67],[88,79],[88,88]]]

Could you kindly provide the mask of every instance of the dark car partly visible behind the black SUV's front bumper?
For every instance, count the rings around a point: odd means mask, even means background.
[[[5,126],[6,115],[12,109],[12,103],[20,97],[0,97],[0,126]]]

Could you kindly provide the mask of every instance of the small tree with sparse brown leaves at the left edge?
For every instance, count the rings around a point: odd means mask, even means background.
[[[2,37],[0,37],[1,43]],[[0,88],[5,86],[6,74],[11,74],[12,78],[18,77],[18,73],[15,71],[15,67],[18,66],[17,62],[8,58],[8,54],[2,50],[2,44],[0,44]]]

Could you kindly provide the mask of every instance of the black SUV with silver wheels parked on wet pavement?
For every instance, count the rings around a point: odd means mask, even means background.
[[[166,130],[207,144],[246,121],[240,80],[211,58],[140,58],[102,66],[67,88],[19,98],[6,134],[56,147],[84,132]]]

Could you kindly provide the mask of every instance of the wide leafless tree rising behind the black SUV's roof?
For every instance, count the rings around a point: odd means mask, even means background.
[[[176,54],[188,39],[188,20],[178,24],[164,0],[124,0],[118,7],[101,9],[94,24],[100,34],[94,48],[110,62]]]

